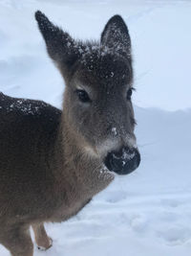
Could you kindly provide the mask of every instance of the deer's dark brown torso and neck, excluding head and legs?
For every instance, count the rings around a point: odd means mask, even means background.
[[[41,216],[42,221],[64,221],[110,183],[108,175],[102,184],[98,172],[88,175],[90,157],[81,155],[76,145],[67,147],[68,135],[60,134],[67,129],[63,128],[59,109],[3,94],[0,102],[0,198],[5,201],[0,208],[2,221],[15,216],[16,221],[35,222]],[[7,207],[8,202],[13,209]]]

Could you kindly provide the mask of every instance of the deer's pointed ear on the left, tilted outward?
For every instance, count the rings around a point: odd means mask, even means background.
[[[46,42],[49,56],[53,58],[58,67],[69,71],[78,58],[74,39],[68,33],[54,26],[44,13],[35,12],[35,19]]]

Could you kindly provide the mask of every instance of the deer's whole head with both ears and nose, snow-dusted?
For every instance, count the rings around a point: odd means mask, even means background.
[[[123,175],[140,161],[134,134],[131,96],[131,40],[118,15],[106,24],[100,42],[81,42],[36,13],[48,53],[66,89],[64,115],[81,147],[100,157],[110,171]]]

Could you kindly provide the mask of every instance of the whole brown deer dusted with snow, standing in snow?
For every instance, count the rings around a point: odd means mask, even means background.
[[[0,244],[32,256],[53,240],[45,222],[75,216],[115,175],[138,168],[133,58],[120,15],[100,41],[74,39],[35,12],[48,54],[65,81],[63,110],[0,93]]]

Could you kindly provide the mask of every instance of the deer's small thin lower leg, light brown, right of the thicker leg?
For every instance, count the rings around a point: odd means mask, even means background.
[[[53,245],[53,240],[48,237],[43,223],[33,224],[32,229],[38,249],[47,250]]]

